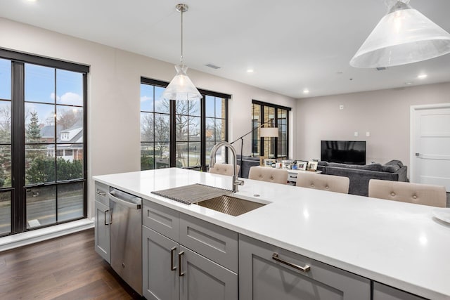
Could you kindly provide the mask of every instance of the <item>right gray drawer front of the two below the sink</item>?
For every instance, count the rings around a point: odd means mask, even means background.
[[[179,242],[221,266],[238,272],[238,233],[181,214]]]

